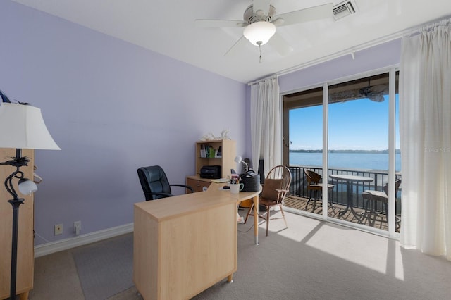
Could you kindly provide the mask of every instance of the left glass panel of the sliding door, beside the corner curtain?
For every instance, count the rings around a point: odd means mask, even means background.
[[[293,177],[286,203],[322,215],[321,191],[309,185],[306,170],[323,174],[323,88],[284,96],[284,112],[283,158]]]

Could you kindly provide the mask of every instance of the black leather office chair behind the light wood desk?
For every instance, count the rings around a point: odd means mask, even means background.
[[[146,201],[174,196],[171,187],[185,187],[193,192],[189,185],[170,185],[166,173],[159,165],[139,168],[137,173]]]

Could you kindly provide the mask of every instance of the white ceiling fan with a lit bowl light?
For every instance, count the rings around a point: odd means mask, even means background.
[[[276,27],[333,17],[333,4],[323,4],[299,11],[276,15],[271,0],[253,0],[243,15],[243,20],[197,19],[197,27],[244,27],[243,35],[228,49],[224,56],[244,49],[247,41],[256,46],[269,43],[281,56],[286,56],[292,47],[276,32]],[[261,61],[261,56],[260,56]]]

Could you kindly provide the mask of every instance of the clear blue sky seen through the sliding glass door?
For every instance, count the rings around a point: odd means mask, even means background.
[[[330,104],[328,108],[329,149],[388,149],[388,95],[384,98],[383,102],[359,99]],[[396,104],[398,104],[397,95]],[[323,148],[322,115],[322,105],[290,111],[290,141],[292,142],[290,150]],[[400,145],[398,124],[396,113],[397,149]]]

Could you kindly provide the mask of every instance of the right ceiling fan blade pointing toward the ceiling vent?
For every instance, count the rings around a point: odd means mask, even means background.
[[[333,4],[330,3],[304,8],[299,11],[291,11],[290,13],[282,13],[280,15],[276,15],[274,18],[283,18],[283,24],[280,26],[285,26],[324,18],[332,19],[332,10]]]

